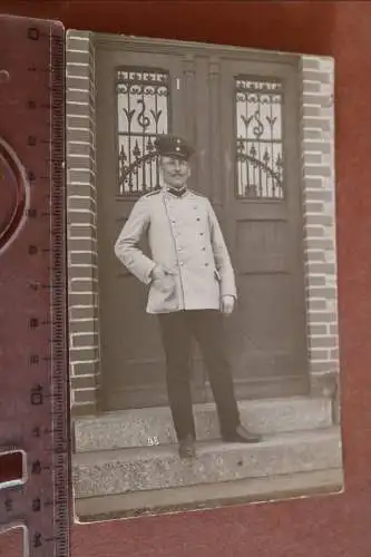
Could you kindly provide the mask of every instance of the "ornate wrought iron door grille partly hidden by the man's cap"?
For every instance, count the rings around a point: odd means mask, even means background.
[[[156,68],[118,68],[116,74],[119,195],[159,187],[154,140],[167,134],[169,75]]]

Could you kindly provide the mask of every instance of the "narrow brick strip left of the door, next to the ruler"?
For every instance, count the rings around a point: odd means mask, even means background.
[[[92,33],[68,32],[66,62],[70,374],[76,416],[97,411],[99,387]]]

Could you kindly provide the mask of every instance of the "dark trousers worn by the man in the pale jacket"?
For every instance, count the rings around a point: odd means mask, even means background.
[[[218,311],[197,310],[164,313],[159,316],[166,354],[166,382],[175,431],[178,439],[195,438],[191,397],[192,339],[199,344],[213,390],[222,436],[234,433],[240,424],[231,368],[224,351],[223,316]]]

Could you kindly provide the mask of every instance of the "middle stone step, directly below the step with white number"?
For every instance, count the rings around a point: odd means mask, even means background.
[[[280,433],[257,444],[198,442],[197,458],[182,461],[173,447],[75,455],[79,498],[198,486],[246,478],[341,468],[339,428]]]

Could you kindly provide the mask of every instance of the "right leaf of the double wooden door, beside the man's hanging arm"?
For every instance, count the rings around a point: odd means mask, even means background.
[[[227,322],[237,398],[303,393],[297,68],[256,60],[213,63],[219,72],[214,119],[219,117],[222,129],[212,135],[219,138],[211,145],[221,177],[214,184],[238,289]]]

